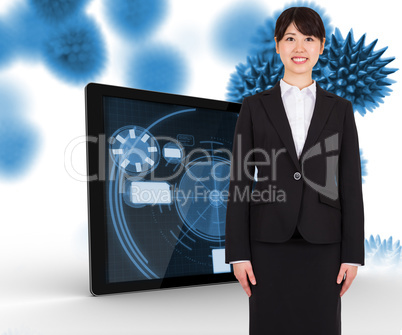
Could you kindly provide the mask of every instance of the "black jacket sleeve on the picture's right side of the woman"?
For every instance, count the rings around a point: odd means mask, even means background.
[[[359,140],[353,106],[347,103],[341,152],[339,187],[342,208],[341,263],[364,265],[364,208]]]

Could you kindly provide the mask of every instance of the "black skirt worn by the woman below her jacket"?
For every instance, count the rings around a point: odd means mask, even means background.
[[[250,335],[340,335],[340,243],[251,241]]]

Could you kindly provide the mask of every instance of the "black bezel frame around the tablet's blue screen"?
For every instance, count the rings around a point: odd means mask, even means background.
[[[200,97],[161,93],[133,88],[125,88],[104,84],[89,83],[85,87],[86,114],[86,148],[87,148],[87,197],[88,197],[88,230],[89,230],[89,264],[90,291],[93,295],[109,293],[134,292],[157,288],[178,288],[192,285],[208,285],[234,282],[233,272],[210,275],[197,275],[164,279],[152,279],[134,282],[106,282],[106,185],[105,178],[99,180],[99,174],[104,173],[98,168],[99,162],[105,157],[100,148],[104,141],[105,124],[103,97],[118,97],[124,99],[145,100],[158,103],[206,108],[226,112],[239,113],[241,104]],[[104,176],[102,176],[104,177]],[[95,180],[92,180],[95,179]]]

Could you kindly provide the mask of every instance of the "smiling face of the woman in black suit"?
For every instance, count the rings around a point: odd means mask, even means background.
[[[321,41],[315,36],[306,36],[290,24],[282,40],[276,40],[276,53],[280,54],[285,71],[290,75],[312,72],[319,55],[324,51],[325,38]]]

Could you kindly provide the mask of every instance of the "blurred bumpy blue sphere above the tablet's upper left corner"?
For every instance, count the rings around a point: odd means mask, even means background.
[[[106,61],[106,48],[95,22],[86,17],[68,20],[49,33],[42,54],[47,66],[72,83],[99,75]]]

